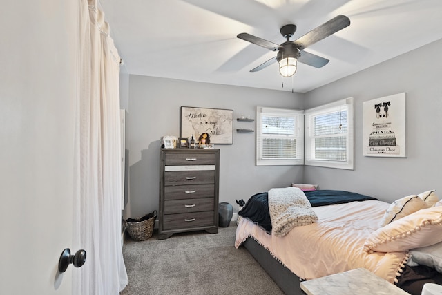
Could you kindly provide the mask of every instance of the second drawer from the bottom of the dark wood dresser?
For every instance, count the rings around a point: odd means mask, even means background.
[[[213,198],[166,200],[164,214],[213,211]]]

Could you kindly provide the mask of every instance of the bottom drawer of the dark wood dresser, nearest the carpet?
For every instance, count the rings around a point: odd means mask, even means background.
[[[213,211],[165,214],[164,230],[214,225]]]

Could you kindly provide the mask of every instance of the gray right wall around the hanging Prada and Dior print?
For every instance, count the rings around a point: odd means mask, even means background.
[[[365,193],[392,202],[429,189],[442,196],[442,40],[306,94],[305,108],[345,97],[355,102],[355,169],[305,166],[304,181],[321,189]],[[407,158],[363,156],[363,102],[407,93]]]

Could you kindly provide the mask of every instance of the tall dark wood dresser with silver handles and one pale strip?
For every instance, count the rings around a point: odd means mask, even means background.
[[[218,233],[219,149],[161,149],[158,238]]]

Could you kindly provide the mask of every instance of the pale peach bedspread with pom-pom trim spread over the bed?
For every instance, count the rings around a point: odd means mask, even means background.
[[[249,236],[269,249],[291,272],[307,280],[365,267],[390,283],[403,268],[406,252],[368,254],[363,245],[390,204],[381,201],[350,202],[314,207],[318,221],[294,227],[285,236],[267,234],[242,218],[235,247]]]

